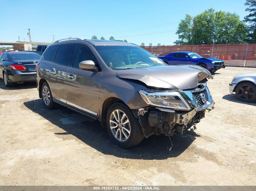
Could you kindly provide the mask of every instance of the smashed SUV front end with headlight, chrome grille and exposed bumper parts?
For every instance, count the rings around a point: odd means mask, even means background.
[[[150,105],[135,110],[146,138],[182,135],[204,118],[206,110],[214,109],[206,83],[190,90],[139,90],[139,94]]]

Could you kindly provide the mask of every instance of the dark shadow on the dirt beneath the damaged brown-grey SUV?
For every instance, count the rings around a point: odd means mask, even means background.
[[[71,134],[103,154],[114,155],[120,158],[161,160],[177,157],[191,145],[196,137],[200,136],[191,129],[182,136],[176,135],[171,137],[174,144],[171,153],[168,152],[168,148],[171,145],[170,139],[164,135],[153,135],[149,138],[144,138],[139,145],[123,149],[111,142],[107,129],[101,128],[97,120],[60,105],[55,110],[47,110],[41,99],[25,102],[24,105],[52,124],[65,130],[66,132],[64,133],[55,133],[59,138],[66,139],[66,135]]]

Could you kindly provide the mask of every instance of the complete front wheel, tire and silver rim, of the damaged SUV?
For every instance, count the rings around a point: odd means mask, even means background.
[[[114,103],[108,109],[107,129],[111,140],[122,148],[138,145],[144,138],[138,119],[123,103]]]

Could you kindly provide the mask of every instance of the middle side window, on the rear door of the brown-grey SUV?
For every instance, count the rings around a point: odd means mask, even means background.
[[[60,45],[56,52],[54,62],[56,62],[57,64],[68,66],[71,59],[73,47],[74,44]]]

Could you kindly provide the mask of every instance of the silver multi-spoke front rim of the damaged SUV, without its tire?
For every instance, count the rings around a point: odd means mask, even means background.
[[[131,133],[131,126],[127,115],[121,110],[114,110],[110,115],[110,129],[118,141],[126,141]]]

